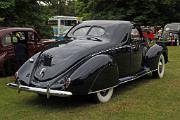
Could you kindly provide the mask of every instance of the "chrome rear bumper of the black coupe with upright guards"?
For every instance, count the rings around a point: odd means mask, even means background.
[[[18,85],[15,83],[8,83],[7,86],[9,86],[10,88],[18,89],[18,92],[28,91],[28,92],[44,94],[47,95],[47,98],[49,98],[50,96],[69,97],[72,95],[72,93],[68,91],[51,90],[50,88],[44,89],[44,88],[28,87],[24,85]]]

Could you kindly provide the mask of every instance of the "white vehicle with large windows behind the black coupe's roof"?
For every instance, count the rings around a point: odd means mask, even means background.
[[[54,38],[61,40],[64,35],[72,26],[82,21],[81,17],[73,16],[53,16],[49,18],[48,25],[53,29]]]

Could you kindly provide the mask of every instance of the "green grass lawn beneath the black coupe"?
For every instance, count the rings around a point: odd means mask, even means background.
[[[6,87],[0,78],[0,120],[180,120],[180,47],[169,47],[163,79],[144,77],[120,85],[110,102],[85,97],[50,100]]]

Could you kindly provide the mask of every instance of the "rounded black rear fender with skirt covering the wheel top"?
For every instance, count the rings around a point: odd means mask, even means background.
[[[81,95],[111,87],[114,85],[112,77],[115,76],[110,72],[112,66],[113,60],[109,55],[102,54],[90,58],[71,74],[68,91]],[[118,74],[116,76],[118,77]]]

